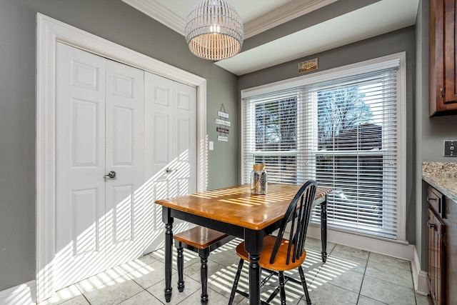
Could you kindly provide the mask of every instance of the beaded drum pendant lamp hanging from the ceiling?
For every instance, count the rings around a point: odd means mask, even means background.
[[[186,41],[201,59],[219,61],[235,56],[243,45],[243,22],[224,0],[203,0],[186,21]]]

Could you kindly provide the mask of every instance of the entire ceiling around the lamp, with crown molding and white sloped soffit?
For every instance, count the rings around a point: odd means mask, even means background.
[[[199,2],[199,0],[122,1],[183,36],[187,15]],[[243,20],[245,41],[239,54],[231,59],[216,61],[215,64],[238,76],[416,24],[419,2],[419,0],[226,1],[235,7]],[[326,18],[320,18],[319,14],[326,14]],[[307,17],[316,22],[306,22]],[[295,24],[288,29],[284,26],[280,28],[281,25],[294,20],[303,26],[297,28]],[[253,43],[248,44],[251,41]]]

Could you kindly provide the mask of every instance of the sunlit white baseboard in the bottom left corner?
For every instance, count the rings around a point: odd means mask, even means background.
[[[36,281],[0,291],[0,305],[36,304]]]

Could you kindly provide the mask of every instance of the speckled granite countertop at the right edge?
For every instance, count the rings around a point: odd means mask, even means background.
[[[457,162],[422,162],[422,179],[457,202]]]

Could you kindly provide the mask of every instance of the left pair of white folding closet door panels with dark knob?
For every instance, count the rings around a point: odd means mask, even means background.
[[[144,71],[58,44],[56,81],[59,289],[143,255]]]

